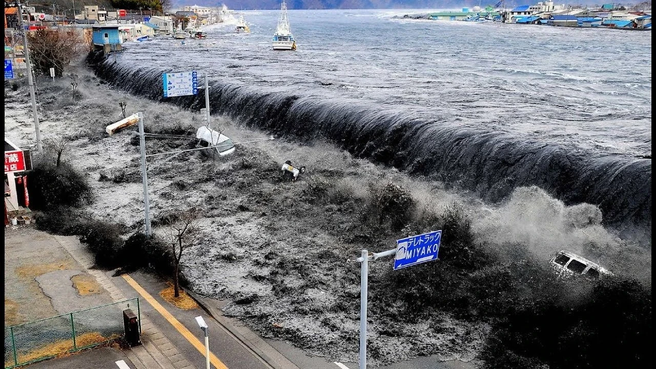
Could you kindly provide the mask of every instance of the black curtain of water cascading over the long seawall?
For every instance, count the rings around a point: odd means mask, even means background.
[[[159,68],[137,68],[113,58],[89,61],[112,85],[164,100]],[[210,95],[213,112],[245,125],[297,139],[325,137],[354,156],[472,190],[489,202],[502,201],[517,186],[537,185],[568,205],[595,204],[605,225],[651,244],[651,158],[522,141],[505,132],[470,129],[447,116],[413,116],[354,100],[281,94],[224,81],[211,81]],[[202,92],[166,100],[192,110],[205,106]]]

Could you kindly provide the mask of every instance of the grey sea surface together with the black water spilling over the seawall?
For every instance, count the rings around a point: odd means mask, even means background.
[[[651,32],[289,11],[298,50],[284,52],[271,47],[277,11],[243,14],[251,33],[129,42],[96,70],[157,100],[162,72],[207,72],[213,114],[325,137],[491,202],[538,185],[651,242]]]

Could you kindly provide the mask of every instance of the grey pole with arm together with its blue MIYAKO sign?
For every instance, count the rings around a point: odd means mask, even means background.
[[[367,369],[367,284],[369,260],[395,255],[394,270],[411,267],[438,259],[440,251],[441,230],[418,234],[396,240],[396,249],[371,253],[362,250],[357,261],[360,263],[360,358],[359,369]]]

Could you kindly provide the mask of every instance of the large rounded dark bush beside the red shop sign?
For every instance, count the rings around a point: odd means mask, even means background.
[[[53,160],[35,161],[28,181],[30,209],[44,210],[58,207],[77,207],[91,204],[91,186],[87,177],[68,163],[59,166]]]

